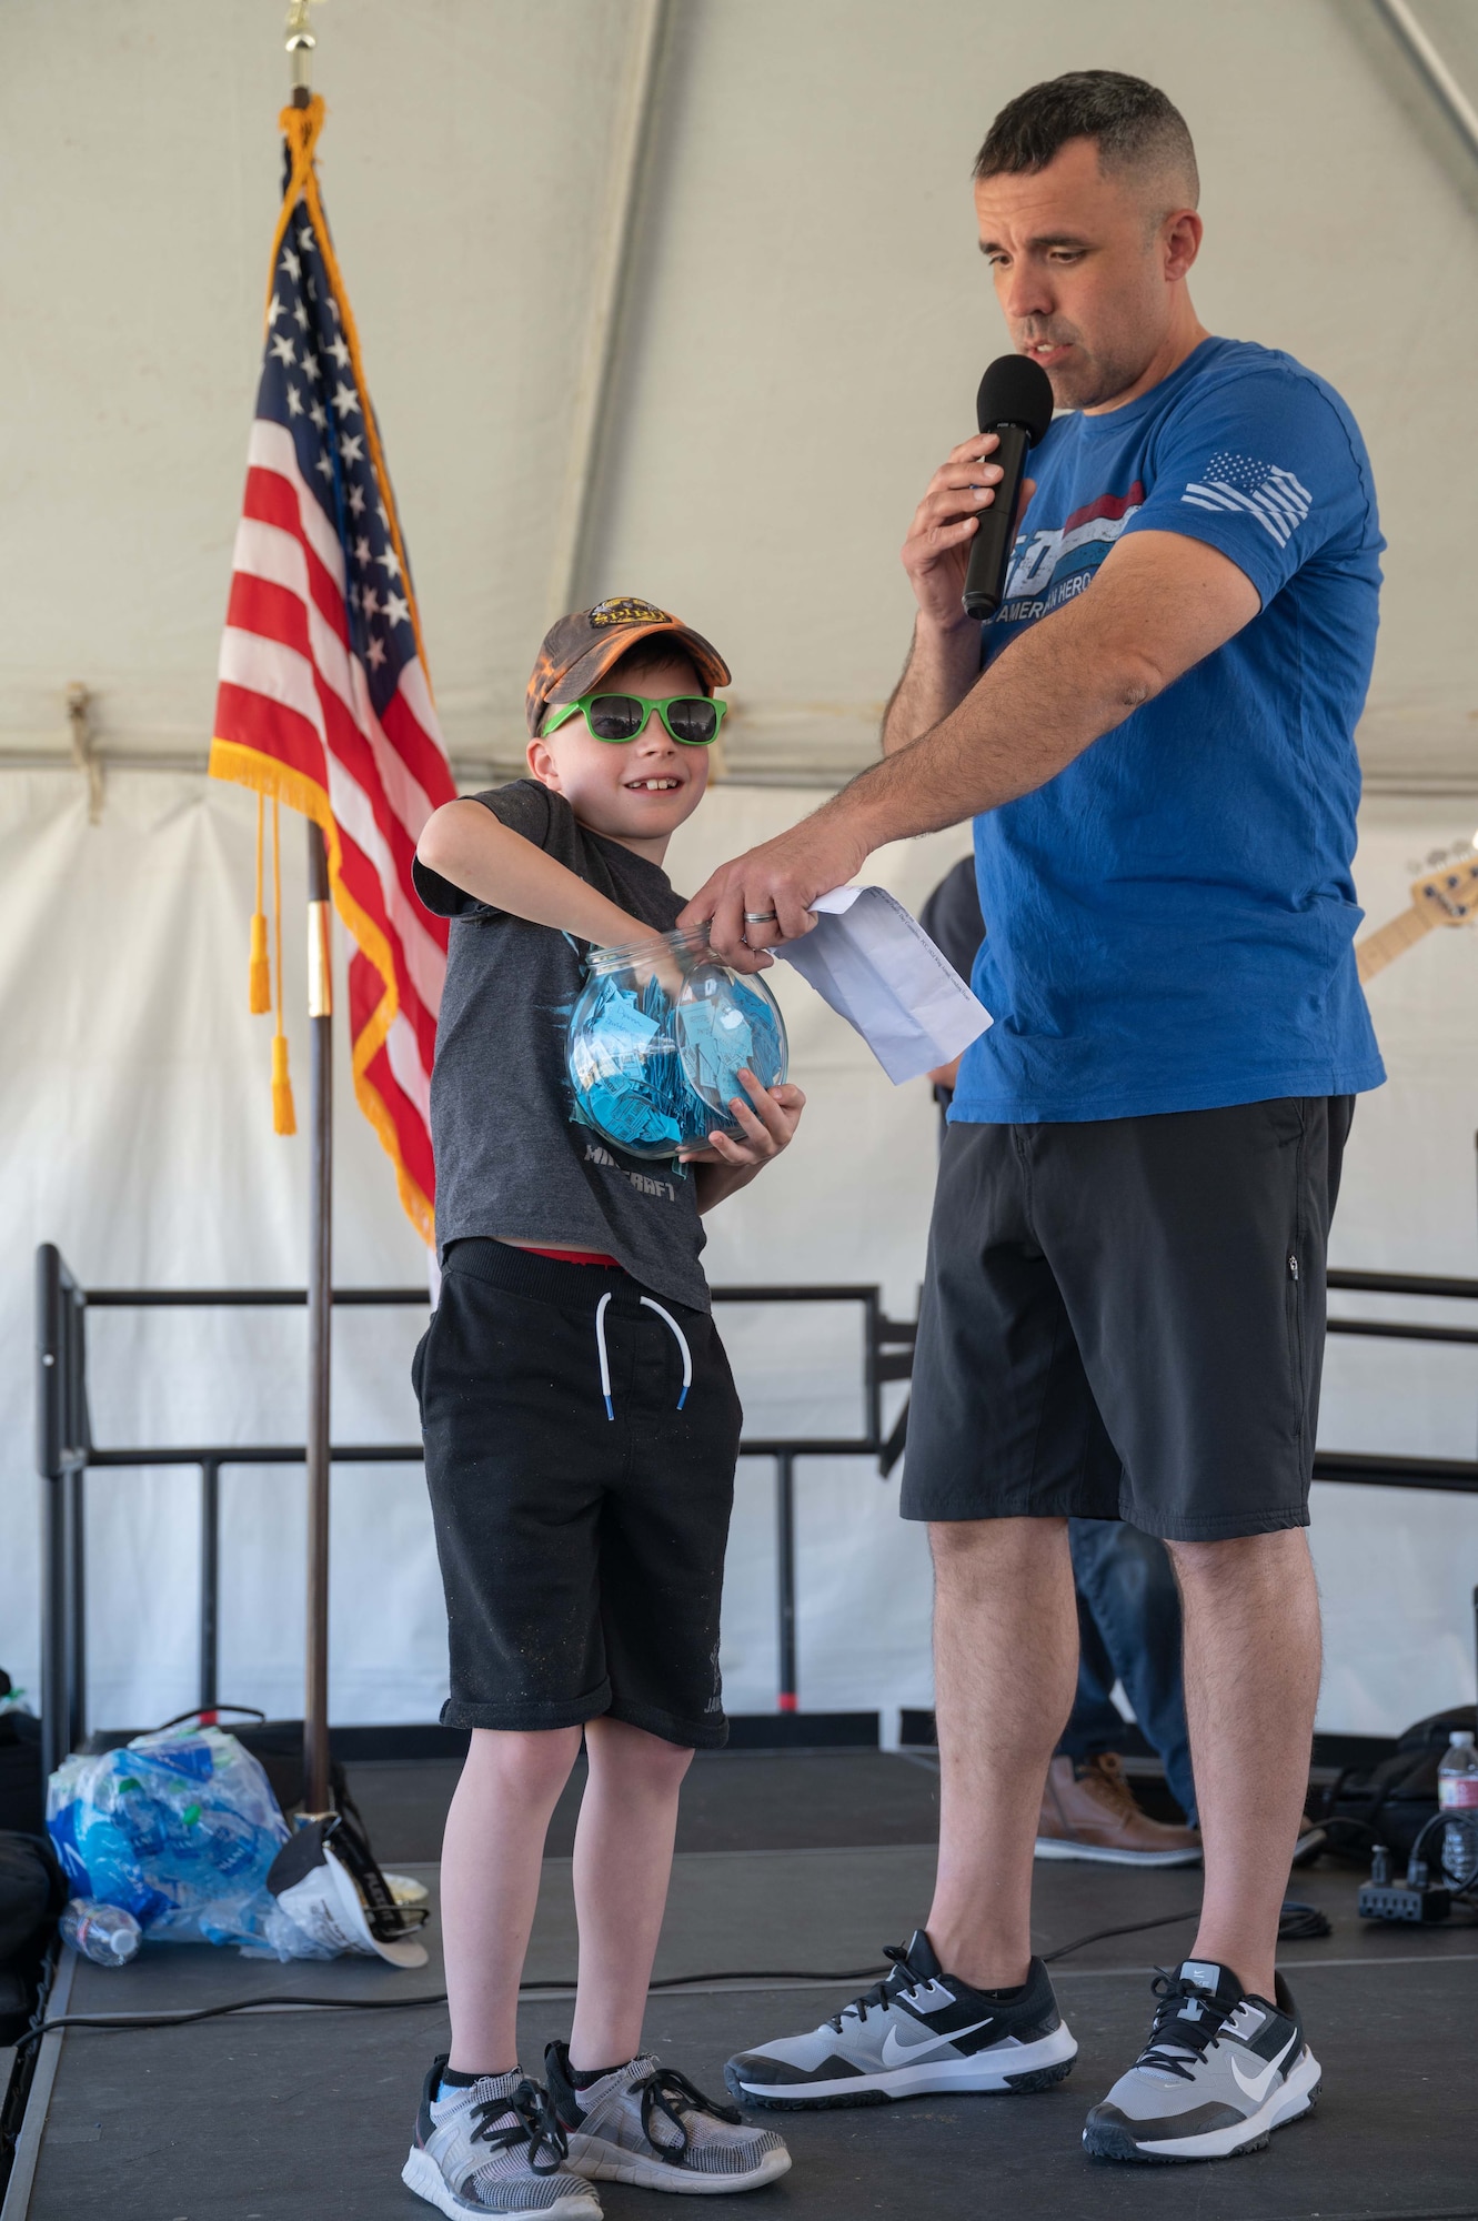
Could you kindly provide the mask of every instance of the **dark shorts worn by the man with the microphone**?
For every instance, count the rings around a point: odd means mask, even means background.
[[[950,1126],[905,1519],[1309,1524],[1325,1248],[1354,1097]]]

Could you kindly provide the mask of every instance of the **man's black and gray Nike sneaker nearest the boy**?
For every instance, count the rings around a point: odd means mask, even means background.
[[[923,1928],[888,1946],[892,1974],[808,2037],[739,2052],[723,2081],[741,2106],[885,2106],[925,2090],[1050,2090],[1079,2050],[1032,1959],[1019,1990],[981,1992],[939,1966]]]

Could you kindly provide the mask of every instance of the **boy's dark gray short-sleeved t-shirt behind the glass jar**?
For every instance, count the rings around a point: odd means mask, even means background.
[[[666,871],[590,833],[564,795],[515,780],[473,800],[655,931],[677,922]],[[657,1295],[708,1310],[692,1168],[644,1164],[570,1119],[564,1044],[584,986],[570,942],[424,864],[415,891],[451,917],[431,1073],[439,1250],[466,1235],[604,1250]]]

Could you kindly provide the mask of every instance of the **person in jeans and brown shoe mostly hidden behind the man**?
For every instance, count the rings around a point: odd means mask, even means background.
[[[919,924],[961,979],[970,979],[985,939],[974,857],[950,866],[919,911]],[[954,1057],[930,1073],[945,1119],[959,1062]],[[948,1122],[941,1130],[948,1135]],[[1036,1857],[1105,1866],[1198,1866],[1196,1828],[1150,1819],[1134,1801],[1118,1759],[1123,1719],[1114,1704],[1114,1681],[1123,1684],[1181,1812],[1194,1819],[1196,1783],[1181,1681],[1181,1592],[1170,1552],[1156,1535],[1141,1535],[1123,1519],[1070,1519],[1067,1548],[1079,1604],[1079,1686],[1047,1768]]]

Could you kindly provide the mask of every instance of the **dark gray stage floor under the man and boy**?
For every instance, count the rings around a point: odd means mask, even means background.
[[[646,2041],[721,2094],[728,2052],[814,2026],[850,1983],[779,1981],[788,1970],[877,1968],[908,1937],[932,1879],[928,1766],[837,1752],[715,1757],[695,1768],[657,1972],[741,1979],[655,1994]],[[377,1850],[435,1890],[408,1859],[437,1783],[355,1783],[377,1801]],[[382,1792],[382,1795],[379,1795]],[[395,1808],[399,1806],[399,1819]],[[817,1819],[821,1815],[823,1819]],[[908,1826],[914,1841],[890,1839]],[[841,1841],[808,1841],[826,1826]],[[728,1843],[690,1848],[692,1830]],[[843,1835],[846,1830],[846,1835]],[[801,1837],[757,1841],[757,1837]],[[879,1841],[881,1837],[881,1841]],[[555,1839],[557,1852],[568,1841]],[[1041,1950],[1161,1912],[1185,1917],[1105,1939],[1054,1970],[1079,2043],[1072,2079],[1041,2097],[919,2099],[874,2110],[766,2117],[794,2168],[721,2214],[806,2221],[1478,2221],[1478,1926],[1374,1928],[1356,1919],[1356,1877],[1309,1870],[1294,1895],[1323,1906],[1334,1934],[1292,1943],[1283,1968],[1325,2066],[1318,2112],[1249,2159],[1203,2168],[1114,2168],[1085,2159],[1083,2110],[1143,2041],[1150,1979],[1190,1943],[1196,1870],[1039,1866]],[[122,1972],[84,1961],[67,2010],[151,2012],[288,1992],[351,2001],[417,1999],[442,1988],[437,1930],[424,1972],[371,1961],[291,1966],[204,1946],[146,1946]],[[575,1968],[568,1855],[546,1863],[530,1979]],[[530,1999],[524,2063],[566,2034],[570,1997]],[[399,2183],[419,2079],[446,2041],[439,2006],[397,2012],[271,2010],[149,2032],[49,2039],[2,2221],[411,2221],[426,2212]],[[650,2192],[601,2185],[610,2221],[652,2214]]]

